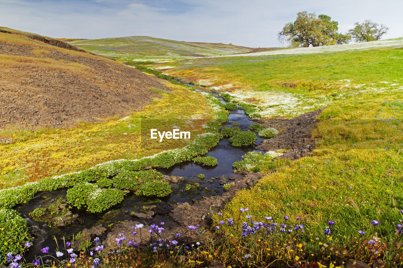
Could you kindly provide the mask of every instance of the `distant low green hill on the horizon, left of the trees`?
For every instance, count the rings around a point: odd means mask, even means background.
[[[135,58],[224,56],[245,53],[253,49],[231,44],[192,43],[147,36],[89,39],[69,43],[86,51],[104,56]]]

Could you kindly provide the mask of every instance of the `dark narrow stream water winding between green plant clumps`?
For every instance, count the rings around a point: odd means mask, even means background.
[[[192,85],[189,86],[194,87]],[[197,89],[197,87],[194,88],[196,91],[202,91],[201,89]],[[220,99],[222,103],[228,103],[228,101],[224,101],[220,96],[218,96],[217,93],[212,94]],[[230,111],[228,121],[222,125],[231,126],[232,123],[238,123],[238,127],[241,130],[248,130],[248,127],[255,122],[249,120],[243,109],[236,109]],[[262,140],[262,138],[258,137],[256,143],[259,144]],[[231,146],[228,138],[223,138],[205,155],[215,157],[218,160],[218,165],[216,167],[203,167],[192,161],[187,161],[174,165],[168,169],[156,168],[157,171],[160,171],[164,175],[174,175],[185,179],[183,182],[171,183],[172,193],[169,196],[156,199],[140,197],[130,193],[125,196],[125,199],[120,204],[111,207],[107,211],[96,214],[87,212],[85,209],[79,210],[73,208],[71,209],[71,212],[73,212],[73,214],[78,214],[79,216],[77,219],[81,222],[80,224],[75,225],[49,227],[44,222],[34,221],[29,218],[29,212],[32,212],[35,208],[43,206],[55,198],[66,198],[67,189],[62,188],[52,192],[39,192],[35,194],[34,198],[31,200],[14,207],[15,210],[19,211],[23,218],[27,220],[28,226],[33,228],[35,234],[37,234],[32,241],[33,246],[25,253],[25,260],[31,262],[37,256],[44,256],[45,254],[41,252],[41,249],[44,247],[50,247],[49,253],[52,255],[55,254],[57,245],[54,237],[56,237],[60,248],[64,248],[63,237],[68,241],[71,239],[73,233],[77,234],[83,229],[90,229],[99,224],[102,224],[103,227],[107,228],[112,223],[118,221],[139,221],[146,222],[149,225],[163,221],[166,223],[166,227],[168,227],[169,223],[173,221],[166,215],[167,211],[171,208],[171,204],[176,202],[188,202],[189,204],[192,204],[194,200],[201,199],[203,196],[209,197],[213,195],[221,195],[223,193],[223,187],[220,185],[220,179],[214,179],[213,177],[239,177],[238,174],[233,172],[232,165],[235,161],[240,161],[242,156],[249,151],[259,150],[255,150],[253,145],[245,148],[234,147]],[[204,179],[199,179],[197,177],[198,174],[204,174]],[[184,191],[185,186],[189,181],[199,183],[197,190]],[[138,219],[131,215],[131,212],[139,212],[139,208],[142,208],[144,205],[156,205],[156,208],[154,209],[155,216],[153,219]],[[100,236],[100,238],[105,238],[106,233],[104,233],[103,236]]]

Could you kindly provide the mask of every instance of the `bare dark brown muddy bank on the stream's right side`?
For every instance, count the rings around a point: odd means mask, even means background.
[[[263,151],[275,151],[287,148],[281,156],[291,160],[305,157],[314,149],[312,129],[318,124],[316,117],[324,108],[301,114],[295,118],[256,118],[256,122],[265,128],[275,128],[280,131],[271,139],[260,142],[256,148]]]

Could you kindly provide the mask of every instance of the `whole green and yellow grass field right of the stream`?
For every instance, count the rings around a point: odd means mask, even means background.
[[[164,72],[229,91],[235,102],[260,105],[262,117],[294,117],[327,107],[312,134],[316,142],[312,155],[287,166],[260,162],[261,171],[280,168],[251,190],[238,192],[223,215],[216,216],[221,227],[216,237],[233,234],[224,239],[225,246],[210,247],[218,250],[220,261],[243,265],[274,261],[280,266],[318,260],[341,264],[349,258],[370,264],[377,258],[391,265],[401,261],[401,238],[395,231],[403,208],[401,48],[165,64],[175,68]],[[245,221],[240,208],[245,207],[255,222],[267,222],[264,216],[271,216],[280,224],[287,215],[289,225],[301,217],[310,235],[259,234],[245,239],[240,228]],[[237,230],[225,227],[229,218],[238,224]],[[372,225],[372,220],[380,225]],[[325,234],[327,221],[335,222],[330,235]],[[282,243],[285,247],[279,246]],[[250,257],[242,260],[246,254]]]

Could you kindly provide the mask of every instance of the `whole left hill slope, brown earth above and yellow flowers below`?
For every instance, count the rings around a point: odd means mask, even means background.
[[[0,30],[0,188],[182,147],[211,119],[207,99],[184,87],[60,40]],[[142,119],[192,139],[141,144]]]

